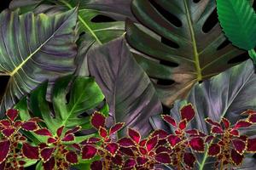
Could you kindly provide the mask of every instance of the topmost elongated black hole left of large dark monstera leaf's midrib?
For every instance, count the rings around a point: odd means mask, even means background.
[[[174,14],[170,13],[170,11],[167,11],[165,8],[161,7],[158,3],[155,3],[154,0],[149,0],[149,2],[158,10],[158,12],[163,15],[166,20],[168,20],[172,25],[181,27],[183,26],[181,20],[177,18]]]

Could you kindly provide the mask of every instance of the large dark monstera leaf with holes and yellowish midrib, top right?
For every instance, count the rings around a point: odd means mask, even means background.
[[[134,0],[131,8],[154,33],[127,20],[127,42],[143,53],[135,55],[137,62],[152,78],[165,105],[184,98],[196,82],[236,65],[234,59],[244,53],[224,37],[214,18],[215,1]]]

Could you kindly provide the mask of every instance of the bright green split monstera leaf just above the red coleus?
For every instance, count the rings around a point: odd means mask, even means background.
[[[46,100],[46,92],[47,83],[44,83],[32,92],[29,100],[22,99],[16,108],[24,113],[20,114],[21,120],[31,116],[41,117],[52,133],[61,126],[67,129],[75,126],[82,126],[84,130],[91,129],[90,116],[81,115],[96,109],[104,99],[94,79],[88,77],[68,76],[58,79],[52,90],[52,104]],[[102,112],[108,114],[107,105],[102,108]]]

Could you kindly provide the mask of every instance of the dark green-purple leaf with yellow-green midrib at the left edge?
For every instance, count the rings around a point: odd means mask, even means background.
[[[41,82],[73,73],[76,22],[76,9],[55,16],[8,9],[0,14],[0,71],[9,76],[0,116]]]

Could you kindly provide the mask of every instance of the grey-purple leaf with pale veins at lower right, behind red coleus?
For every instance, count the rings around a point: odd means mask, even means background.
[[[204,133],[209,133],[210,129],[205,118],[210,117],[215,122],[220,122],[222,117],[227,118],[232,125],[239,119],[244,118],[242,111],[248,109],[256,110],[256,74],[253,70],[253,62],[246,62],[236,65],[228,71],[224,71],[216,77],[201,84],[196,84],[192,88],[187,100],[178,101],[171,110],[173,117],[179,117],[179,109],[187,103],[192,103],[195,107],[195,119],[189,123],[190,128],[200,129]],[[166,127],[160,116],[151,119],[154,128]],[[173,129],[169,127],[169,131]],[[243,133],[255,137],[255,126],[244,129]],[[208,150],[208,148],[207,148]],[[205,153],[207,153],[207,150]],[[211,169],[211,159],[204,154],[199,158],[198,169]],[[248,155],[246,161],[238,169],[254,169],[256,160]]]

